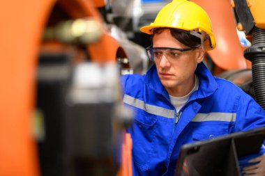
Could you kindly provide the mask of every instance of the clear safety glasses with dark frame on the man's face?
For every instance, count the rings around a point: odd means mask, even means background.
[[[166,56],[167,59],[176,60],[179,56],[185,52],[190,51],[192,48],[170,48],[170,47],[147,47],[146,51],[151,61],[160,60],[163,55]]]

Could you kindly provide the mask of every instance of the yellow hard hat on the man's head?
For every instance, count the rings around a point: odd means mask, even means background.
[[[201,38],[206,51],[215,48],[215,38],[209,15],[196,3],[187,0],[173,0],[164,6],[153,23],[140,31],[153,34],[153,29],[172,28],[184,30]]]

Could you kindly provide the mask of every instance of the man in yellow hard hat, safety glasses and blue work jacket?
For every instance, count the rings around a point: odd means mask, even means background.
[[[265,126],[259,104],[202,62],[215,38],[201,7],[174,0],[141,31],[152,35],[147,52],[155,65],[121,79],[123,103],[135,111],[128,129],[134,175],[174,175],[181,145]],[[265,155],[255,161],[244,172],[265,175]]]

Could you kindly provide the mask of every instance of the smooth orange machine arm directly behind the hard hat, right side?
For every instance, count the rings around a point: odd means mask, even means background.
[[[191,0],[202,6],[211,18],[216,48],[209,51],[213,62],[222,70],[250,68],[251,63],[243,56],[236,33],[236,19],[229,0]]]

